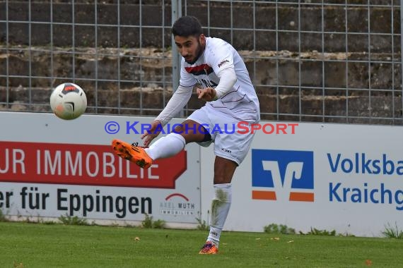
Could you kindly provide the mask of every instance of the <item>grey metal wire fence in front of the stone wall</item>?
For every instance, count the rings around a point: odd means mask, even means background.
[[[155,116],[177,85],[172,22],[192,15],[243,56],[262,119],[402,125],[401,5],[0,1],[0,109],[49,111],[52,88],[73,82],[88,113]]]

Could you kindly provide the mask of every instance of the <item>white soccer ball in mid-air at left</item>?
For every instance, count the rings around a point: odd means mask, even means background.
[[[86,111],[86,92],[73,83],[58,85],[50,95],[50,107],[59,118],[75,119]]]

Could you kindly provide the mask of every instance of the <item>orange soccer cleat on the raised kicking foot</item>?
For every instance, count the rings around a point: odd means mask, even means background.
[[[148,156],[142,147],[115,139],[112,140],[112,148],[119,157],[129,160],[141,168],[148,169],[153,164],[153,159]]]

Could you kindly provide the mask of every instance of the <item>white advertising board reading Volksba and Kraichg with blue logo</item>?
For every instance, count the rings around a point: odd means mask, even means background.
[[[284,122],[283,122],[284,123]],[[276,122],[263,121],[276,126]],[[403,226],[403,127],[298,123],[257,130],[233,178],[226,230],[263,231],[269,224],[382,236]],[[202,149],[202,214],[207,219],[214,163]]]

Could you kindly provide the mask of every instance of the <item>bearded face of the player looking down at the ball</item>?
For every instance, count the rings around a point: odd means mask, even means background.
[[[206,44],[206,37],[204,37],[204,35],[200,35],[199,37],[182,37],[176,35],[174,39],[180,55],[182,55],[189,64],[193,64],[199,59]]]

